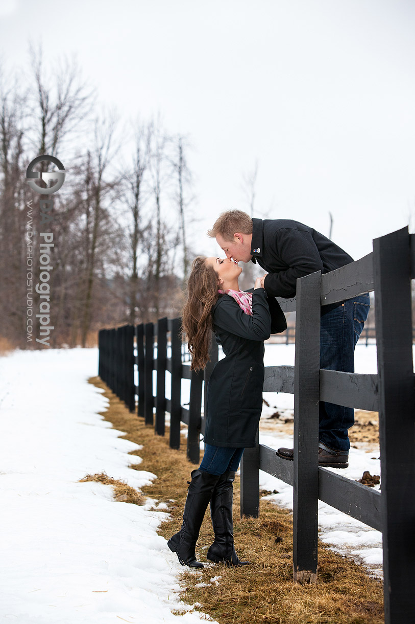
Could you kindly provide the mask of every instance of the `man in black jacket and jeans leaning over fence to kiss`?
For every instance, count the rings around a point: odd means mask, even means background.
[[[290,219],[255,219],[241,210],[220,215],[207,232],[216,238],[228,258],[258,263],[267,271],[262,285],[274,297],[295,296],[297,278],[321,270],[328,273],[353,262],[333,241]],[[320,368],[353,373],[354,352],[370,308],[368,293],[321,310]],[[348,467],[348,429],[355,422],[351,407],[320,401],[318,463]],[[293,449],[278,449],[284,459],[293,459]]]

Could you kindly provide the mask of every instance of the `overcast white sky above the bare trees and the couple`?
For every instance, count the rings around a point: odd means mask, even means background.
[[[354,258],[415,215],[413,0],[2,0],[0,57],[76,53],[123,117],[188,134],[196,248],[227,208],[293,218]]]

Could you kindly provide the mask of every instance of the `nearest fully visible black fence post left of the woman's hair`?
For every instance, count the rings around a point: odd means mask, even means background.
[[[181,421],[181,318],[171,323],[171,394],[170,394],[170,439],[172,449],[180,448]]]

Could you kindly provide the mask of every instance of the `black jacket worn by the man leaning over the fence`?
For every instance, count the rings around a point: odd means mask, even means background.
[[[268,271],[265,290],[274,297],[295,296],[297,278],[328,273],[353,262],[346,251],[313,228],[290,219],[252,219],[252,262]]]

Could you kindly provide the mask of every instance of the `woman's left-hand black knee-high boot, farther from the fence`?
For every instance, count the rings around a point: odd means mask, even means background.
[[[176,553],[181,565],[203,568],[203,563],[196,559],[194,548],[198,541],[204,513],[220,477],[203,470],[192,470],[191,477],[188,497],[184,505],[183,524],[179,532],[169,539],[167,545],[171,551]]]

